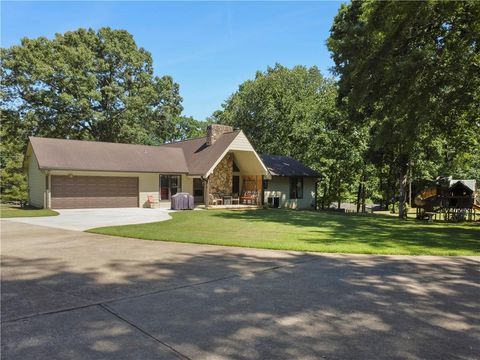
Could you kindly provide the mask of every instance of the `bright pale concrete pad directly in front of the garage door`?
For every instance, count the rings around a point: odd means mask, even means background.
[[[167,209],[64,209],[55,211],[60,215],[12,218],[8,219],[8,221],[48,226],[64,230],[85,231],[102,226],[142,224],[171,219],[169,215],[171,211]]]

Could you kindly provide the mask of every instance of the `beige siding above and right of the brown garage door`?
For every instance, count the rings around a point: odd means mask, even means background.
[[[106,171],[60,171],[52,170],[52,175],[73,175],[73,176],[126,176],[138,177],[139,203],[140,207],[147,207],[147,196],[153,196],[158,201],[159,195],[159,174],[155,173],[131,173],[131,172],[106,172]]]

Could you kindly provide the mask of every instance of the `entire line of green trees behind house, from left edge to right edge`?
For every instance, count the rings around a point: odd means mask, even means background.
[[[219,122],[321,172],[321,207],[403,216],[410,183],[415,194],[439,175],[480,181],[479,34],[479,2],[354,1],[327,42],[334,77],[276,64],[206,122],[181,115],[179,85],[126,31],[22,39],[1,50],[2,199],[26,199],[29,135],[161,144]]]

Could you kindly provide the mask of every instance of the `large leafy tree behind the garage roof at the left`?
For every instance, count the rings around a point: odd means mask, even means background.
[[[21,154],[29,135],[156,144],[175,131],[179,85],[170,76],[154,76],[151,55],[127,31],[24,38],[0,56],[6,200],[26,196]]]

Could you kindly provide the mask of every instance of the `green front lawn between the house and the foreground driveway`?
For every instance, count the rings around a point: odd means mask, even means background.
[[[293,210],[184,211],[173,219],[89,232],[265,249],[357,254],[480,255],[480,224]]]

